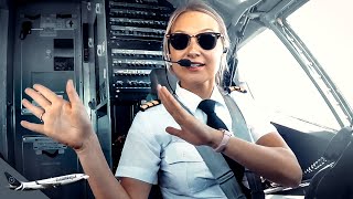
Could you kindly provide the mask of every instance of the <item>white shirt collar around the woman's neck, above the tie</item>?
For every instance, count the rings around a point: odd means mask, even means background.
[[[199,104],[201,103],[202,98],[185,90],[185,88],[182,88],[180,85],[179,85],[179,82],[176,83],[176,87],[175,87],[175,94],[176,94],[176,97],[178,100],[184,105],[186,106],[186,108],[189,108],[189,111],[192,113],[192,114],[195,114],[196,109],[197,109],[197,106]],[[211,97],[210,100],[213,100],[216,102],[216,104],[221,104],[221,105],[224,105],[225,106],[225,102],[224,102],[224,98],[220,92],[220,90],[217,88],[217,86],[214,86],[213,87],[213,92],[211,94]]]

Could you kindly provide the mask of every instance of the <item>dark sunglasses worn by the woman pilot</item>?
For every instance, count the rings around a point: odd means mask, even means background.
[[[196,35],[189,35],[185,33],[171,33],[165,35],[169,39],[169,43],[175,50],[184,50],[190,43],[191,38],[196,38],[199,45],[204,50],[212,50],[216,46],[221,33],[216,32],[203,32]]]

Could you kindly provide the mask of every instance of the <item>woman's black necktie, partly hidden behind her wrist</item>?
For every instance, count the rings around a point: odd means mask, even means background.
[[[199,104],[199,108],[202,109],[207,115],[207,125],[215,128],[215,129],[228,129],[227,126],[223,123],[223,121],[217,116],[214,112],[216,102],[213,100],[203,100]],[[244,167],[236,163],[235,160],[228,158],[227,156],[223,156],[224,159],[227,161],[229,168],[233,170],[237,181],[240,184],[243,180],[244,175]]]

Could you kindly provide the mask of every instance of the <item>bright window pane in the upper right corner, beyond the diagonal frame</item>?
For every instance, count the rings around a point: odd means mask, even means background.
[[[311,0],[288,17],[288,22],[314,54],[353,107],[352,0]]]

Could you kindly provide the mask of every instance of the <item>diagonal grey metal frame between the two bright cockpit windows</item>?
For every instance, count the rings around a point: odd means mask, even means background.
[[[301,41],[298,34],[290,28],[286,18],[269,18],[269,14],[261,13],[258,18],[265,27],[270,29],[290,53],[298,61],[310,81],[314,84],[320,95],[334,115],[341,127],[352,126],[353,111],[344,96],[338,92],[335,84],[312,55],[307,45]],[[338,106],[335,106],[336,104]]]

